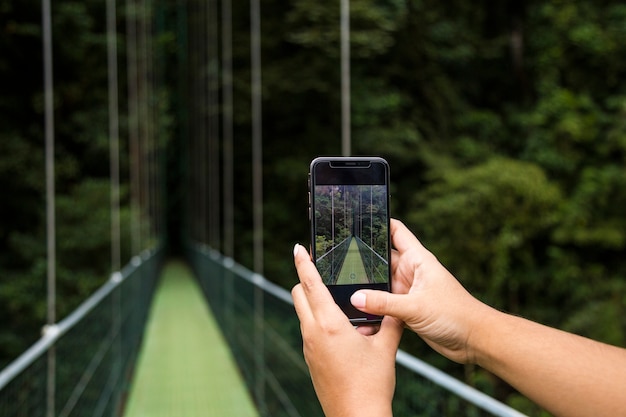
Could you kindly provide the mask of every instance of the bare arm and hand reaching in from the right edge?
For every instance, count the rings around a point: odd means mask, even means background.
[[[363,311],[404,321],[449,359],[477,363],[562,416],[626,416],[626,350],[499,312],[472,297],[399,221],[393,291],[359,291]]]

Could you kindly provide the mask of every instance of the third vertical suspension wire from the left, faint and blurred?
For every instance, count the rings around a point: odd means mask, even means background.
[[[131,253],[141,250],[141,205],[139,196],[139,109],[137,92],[137,7],[126,0],[126,67],[128,84],[128,141],[130,159]]]

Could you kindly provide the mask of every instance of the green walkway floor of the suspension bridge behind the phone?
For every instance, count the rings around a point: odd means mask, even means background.
[[[153,301],[125,417],[257,416],[191,270],[170,262]]]

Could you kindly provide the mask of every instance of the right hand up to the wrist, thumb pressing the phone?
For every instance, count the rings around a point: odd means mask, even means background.
[[[360,290],[352,304],[402,320],[432,348],[456,362],[475,362],[471,336],[493,310],[472,297],[402,224],[391,220],[392,293]]]

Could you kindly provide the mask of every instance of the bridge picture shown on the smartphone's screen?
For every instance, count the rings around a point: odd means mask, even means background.
[[[315,253],[326,285],[389,280],[384,185],[315,187]]]

